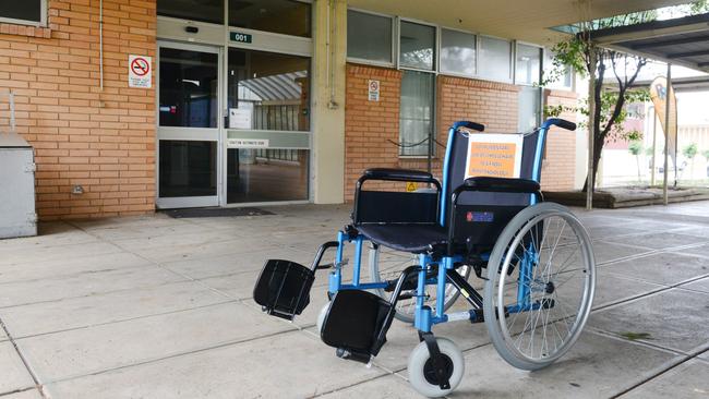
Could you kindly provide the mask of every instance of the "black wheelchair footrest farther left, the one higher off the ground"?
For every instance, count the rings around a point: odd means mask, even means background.
[[[261,270],[253,299],[269,315],[292,321],[310,303],[315,273],[290,261],[268,259]]]

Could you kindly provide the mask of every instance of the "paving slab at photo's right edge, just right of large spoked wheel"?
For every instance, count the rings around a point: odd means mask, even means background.
[[[692,352],[709,342],[707,309],[709,294],[672,289],[594,312],[588,325],[618,337]]]

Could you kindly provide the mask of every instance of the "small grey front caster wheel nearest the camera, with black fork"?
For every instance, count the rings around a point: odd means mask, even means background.
[[[460,349],[447,338],[436,338],[438,350],[445,362],[446,376],[450,388],[441,389],[435,377],[433,361],[425,341],[419,342],[409,355],[409,383],[419,394],[429,398],[440,398],[450,394],[462,379],[465,362]]]

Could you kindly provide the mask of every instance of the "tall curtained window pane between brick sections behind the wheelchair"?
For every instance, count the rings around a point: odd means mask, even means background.
[[[429,137],[433,136],[433,73],[404,71],[399,110],[399,155],[429,155]]]

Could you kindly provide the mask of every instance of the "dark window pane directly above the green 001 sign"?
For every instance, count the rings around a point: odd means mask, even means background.
[[[229,0],[229,25],[310,37],[310,4],[295,0]]]

